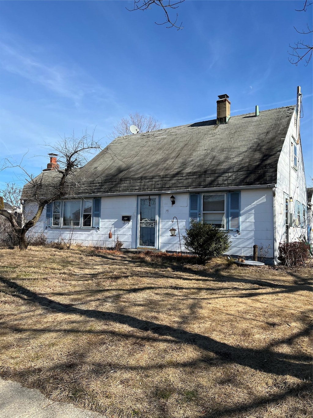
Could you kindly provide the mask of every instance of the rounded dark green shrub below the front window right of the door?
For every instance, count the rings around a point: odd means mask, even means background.
[[[183,238],[187,250],[194,252],[202,263],[209,257],[224,254],[230,247],[230,237],[227,232],[212,224],[192,221]]]

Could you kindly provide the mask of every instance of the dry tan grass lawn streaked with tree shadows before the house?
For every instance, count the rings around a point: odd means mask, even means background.
[[[108,417],[308,417],[309,269],[0,250],[0,375]]]

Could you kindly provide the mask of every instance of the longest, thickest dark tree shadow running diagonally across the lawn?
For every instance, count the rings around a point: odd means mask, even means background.
[[[281,354],[270,351],[269,349],[255,350],[238,348],[216,341],[208,336],[188,332],[184,329],[174,328],[165,324],[157,324],[153,321],[146,321],[130,315],[93,309],[75,308],[71,304],[60,303],[45,296],[40,296],[37,293],[3,277],[0,277],[0,281],[15,291],[15,293],[12,293],[12,296],[21,298],[25,301],[30,301],[32,303],[38,303],[42,308],[48,311],[82,315],[89,319],[112,321],[131,326],[132,328],[139,329],[141,331],[151,331],[153,334],[159,336],[170,336],[177,342],[192,344],[197,346],[199,349],[212,352],[222,359],[231,360],[232,362],[242,366],[250,367],[251,369],[262,372],[275,373],[276,375],[287,374],[298,377],[299,379],[307,379],[310,376],[310,367],[308,364],[304,363],[310,361],[310,357],[308,356],[298,357]],[[296,339],[299,336],[308,336],[310,331],[310,325],[305,326],[302,331],[294,334],[292,337],[288,337],[288,343],[290,344],[293,339]],[[278,342],[278,344],[283,343],[283,340]],[[295,361],[298,362],[295,363]]]

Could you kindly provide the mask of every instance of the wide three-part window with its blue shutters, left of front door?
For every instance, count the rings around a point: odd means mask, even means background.
[[[101,199],[55,201],[46,206],[48,227],[99,227]]]

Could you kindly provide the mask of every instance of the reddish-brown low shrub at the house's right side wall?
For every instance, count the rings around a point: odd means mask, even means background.
[[[301,267],[310,257],[310,244],[305,242],[280,242],[278,260],[287,267]]]

